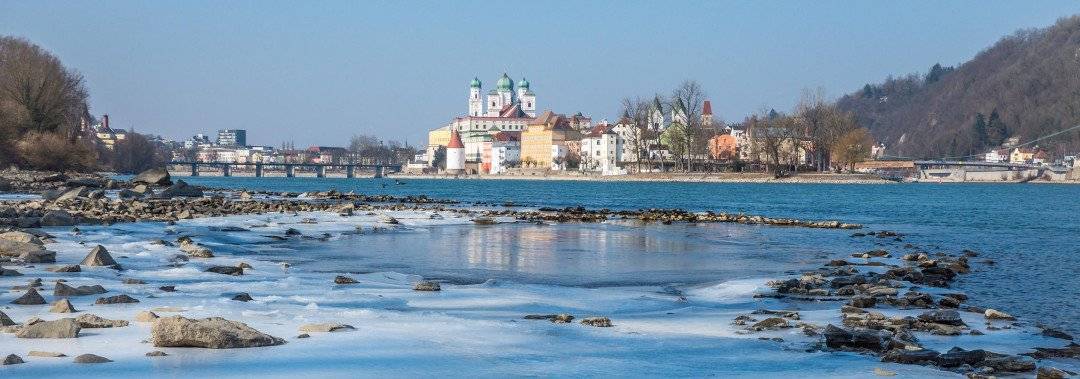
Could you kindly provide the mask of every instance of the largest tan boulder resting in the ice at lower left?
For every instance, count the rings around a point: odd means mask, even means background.
[[[221,317],[191,320],[176,315],[158,319],[150,336],[158,348],[234,349],[285,343],[284,339]]]

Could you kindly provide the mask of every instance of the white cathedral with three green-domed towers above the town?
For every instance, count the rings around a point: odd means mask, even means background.
[[[529,90],[529,81],[522,78],[514,89],[514,81],[502,73],[495,83],[495,90],[487,93],[486,99],[480,79],[473,78],[469,83],[469,116],[517,118],[537,117],[537,95]]]

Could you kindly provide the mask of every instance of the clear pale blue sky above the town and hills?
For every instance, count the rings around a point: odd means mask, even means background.
[[[542,109],[619,114],[686,79],[725,120],[971,58],[1078,1],[13,1],[0,33],[81,71],[92,112],[184,138],[424,140],[503,71]]]

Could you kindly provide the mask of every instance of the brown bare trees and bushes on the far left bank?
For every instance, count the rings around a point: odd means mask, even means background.
[[[113,149],[87,126],[90,94],[82,75],[15,37],[0,36],[0,164],[46,171],[135,172],[164,162],[164,149],[127,133]]]

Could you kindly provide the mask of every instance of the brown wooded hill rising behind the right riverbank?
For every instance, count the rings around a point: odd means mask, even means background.
[[[889,155],[985,152],[1080,124],[1080,15],[1002,38],[959,67],[888,78],[837,100]],[[1080,152],[1080,130],[1040,141],[1055,157]]]

